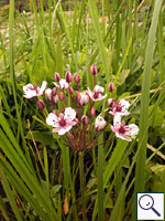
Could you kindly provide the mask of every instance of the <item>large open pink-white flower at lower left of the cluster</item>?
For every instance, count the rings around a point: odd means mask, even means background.
[[[46,118],[47,125],[54,127],[53,133],[58,133],[58,135],[64,135],[69,131],[74,125],[78,123],[76,118],[76,112],[72,107],[66,107],[64,113],[59,116],[51,113]]]

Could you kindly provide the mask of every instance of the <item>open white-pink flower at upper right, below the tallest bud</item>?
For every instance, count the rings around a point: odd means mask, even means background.
[[[94,102],[97,102],[97,101],[100,101],[100,99],[103,99],[107,97],[107,94],[102,96],[102,93],[105,92],[105,88],[102,86],[99,86],[99,85],[96,85],[94,87],[94,92],[91,92],[88,87],[88,94],[90,96],[90,98],[94,101]]]

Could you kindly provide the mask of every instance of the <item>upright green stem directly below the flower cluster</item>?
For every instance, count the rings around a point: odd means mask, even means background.
[[[82,221],[86,221],[86,199],[85,199],[85,175],[84,175],[84,152],[79,152],[79,173],[80,173],[80,192],[82,203]]]

